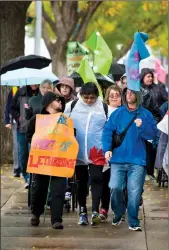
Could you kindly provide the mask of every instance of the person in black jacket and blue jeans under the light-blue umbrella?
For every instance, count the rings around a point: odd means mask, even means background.
[[[28,121],[25,119],[24,104],[37,95],[39,92],[38,85],[24,86],[16,92],[11,103],[11,114],[17,123],[17,140],[18,140],[18,157],[22,175],[25,179],[25,188],[28,188],[29,174],[26,173],[29,145],[25,138],[25,132]]]

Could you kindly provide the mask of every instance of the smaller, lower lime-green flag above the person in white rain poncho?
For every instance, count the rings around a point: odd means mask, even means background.
[[[98,90],[99,90],[99,95],[103,99],[102,90],[101,90],[100,85],[98,84],[97,79],[95,77],[95,74],[94,74],[94,72],[89,64],[87,56],[83,57],[81,64],[80,64],[80,67],[77,69],[77,73],[79,73],[79,75],[81,76],[84,83],[87,83],[87,82],[95,83]]]

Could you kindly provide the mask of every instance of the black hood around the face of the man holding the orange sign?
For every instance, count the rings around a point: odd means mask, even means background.
[[[54,100],[60,100],[62,103],[62,112],[64,112],[65,109],[65,99],[62,96],[59,96],[51,91],[47,92],[43,98],[42,98],[42,109],[41,114],[46,114],[46,107],[53,102]]]

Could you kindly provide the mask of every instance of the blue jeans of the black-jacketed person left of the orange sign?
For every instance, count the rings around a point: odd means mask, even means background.
[[[28,156],[29,156],[29,145],[25,137],[25,133],[17,131],[17,140],[18,140],[18,158],[21,172],[25,182],[29,182],[29,174],[26,173]]]

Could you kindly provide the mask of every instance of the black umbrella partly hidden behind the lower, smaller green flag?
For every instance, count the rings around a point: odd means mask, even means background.
[[[100,73],[95,73],[95,76],[102,89],[107,89],[114,83],[114,79],[111,76],[103,76]],[[74,79],[75,87],[81,87],[84,84],[79,73],[74,72],[70,77]]]

